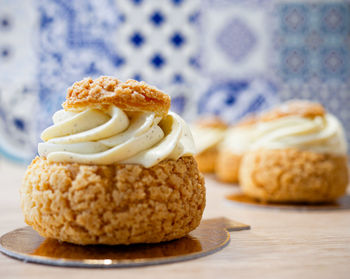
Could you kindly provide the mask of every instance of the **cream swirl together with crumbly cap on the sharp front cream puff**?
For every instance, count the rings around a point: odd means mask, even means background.
[[[50,162],[152,167],[195,153],[185,121],[169,112],[170,97],[144,82],[91,78],[68,89],[38,153]]]

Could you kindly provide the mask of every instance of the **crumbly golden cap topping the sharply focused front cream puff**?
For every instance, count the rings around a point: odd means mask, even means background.
[[[81,110],[107,105],[115,105],[125,111],[153,111],[166,115],[170,108],[170,97],[143,81],[121,82],[114,77],[102,76],[95,80],[85,78],[75,82],[68,89],[62,106],[66,110]]]

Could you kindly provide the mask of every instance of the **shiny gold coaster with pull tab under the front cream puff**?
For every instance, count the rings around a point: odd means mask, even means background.
[[[0,251],[10,257],[47,265],[73,267],[132,267],[185,261],[203,257],[224,248],[228,231],[249,226],[218,218],[178,240],[158,244],[74,245],[41,237],[31,227],[11,231],[0,238]]]

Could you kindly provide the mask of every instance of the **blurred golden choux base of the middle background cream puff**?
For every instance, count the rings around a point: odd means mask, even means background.
[[[222,182],[237,183],[242,155],[228,150],[220,150],[215,166],[215,174]]]

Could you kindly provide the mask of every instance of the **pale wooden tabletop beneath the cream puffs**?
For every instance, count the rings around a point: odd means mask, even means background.
[[[19,187],[25,168],[0,161],[0,234],[24,226]],[[208,176],[204,218],[251,225],[231,233],[223,250],[195,260],[121,269],[60,268],[0,253],[0,278],[350,278],[350,210],[251,208],[224,199],[237,187]]]

